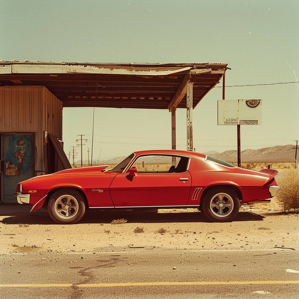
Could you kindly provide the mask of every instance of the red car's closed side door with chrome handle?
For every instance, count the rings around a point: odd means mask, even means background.
[[[169,173],[168,168],[171,166],[169,163],[163,164],[167,171],[155,170],[155,167],[162,164],[150,165],[150,170],[146,171],[144,163],[137,163],[136,168],[139,171],[135,176],[130,176],[129,173],[115,176],[109,188],[115,207],[187,205],[191,187],[190,173],[187,170]]]

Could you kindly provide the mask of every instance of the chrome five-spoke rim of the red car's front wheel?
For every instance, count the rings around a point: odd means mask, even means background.
[[[61,219],[71,219],[78,213],[79,204],[71,195],[62,195],[55,200],[54,211]]]

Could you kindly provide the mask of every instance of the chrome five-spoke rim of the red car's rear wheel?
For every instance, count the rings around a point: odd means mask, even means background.
[[[217,193],[210,201],[210,210],[217,217],[227,217],[234,208],[234,201],[227,193]]]

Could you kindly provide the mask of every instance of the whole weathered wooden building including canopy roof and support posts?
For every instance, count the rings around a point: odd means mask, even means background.
[[[186,109],[187,150],[193,150],[193,109],[227,69],[223,63],[0,60],[2,202],[15,201],[17,182],[71,167],[62,149],[62,107],[167,109],[172,149],[176,109]]]

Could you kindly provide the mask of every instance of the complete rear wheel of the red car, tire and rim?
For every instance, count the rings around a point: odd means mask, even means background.
[[[239,213],[239,209],[240,201],[237,193],[225,186],[209,190],[202,203],[205,216],[213,222],[232,221]]]

